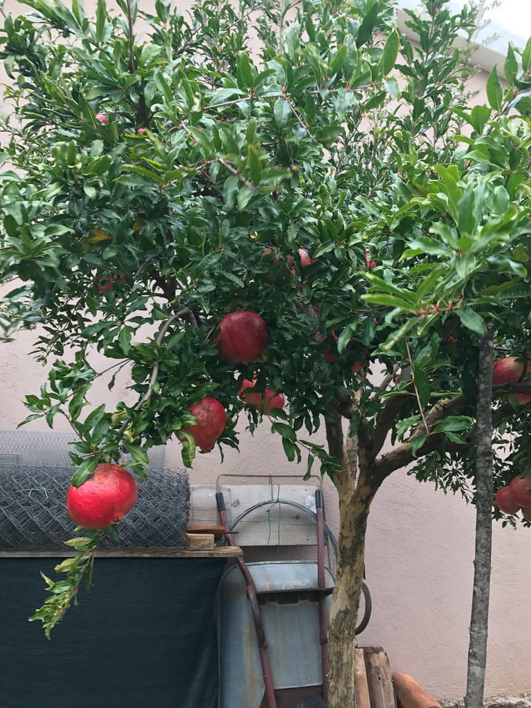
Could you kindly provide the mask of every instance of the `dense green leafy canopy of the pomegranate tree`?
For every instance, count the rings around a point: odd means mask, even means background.
[[[408,12],[413,45],[387,0],[205,0],[189,16],[99,0],[95,18],[76,0],[26,5],[0,36],[0,317],[6,338],[39,326],[50,376],[27,420],[67,416],[74,484],[122,452],[142,474],[208,395],[236,446],[256,374],[289,401],[272,430],[307,472],[314,457],[337,472],[311,435],[344,416],[382,474],[420,459],[421,478],[469,493],[485,321],[500,355],[529,350],[531,45],[510,47],[507,85],[493,69],[472,107],[454,40],[473,7],[426,0],[426,17]],[[253,365],[214,344],[237,309],[270,329]],[[127,401],[89,406],[108,372],[95,350],[130,372]],[[497,395],[509,478],[527,467],[529,413]],[[401,445],[378,458],[389,432]]]

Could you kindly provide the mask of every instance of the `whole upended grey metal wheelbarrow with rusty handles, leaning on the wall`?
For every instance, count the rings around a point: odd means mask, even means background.
[[[223,495],[216,497],[227,529],[225,537],[234,544]],[[234,520],[232,528],[241,517]],[[324,565],[326,525],[320,490],[316,491],[315,518],[317,562],[246,564],[238,559],[237,565],[224,573],[219,586],[219,708],[326,706],[326,628],[333,576]],[[370,615],[366,586],[364,593],[362,622],[366,626],[367,612]]]

